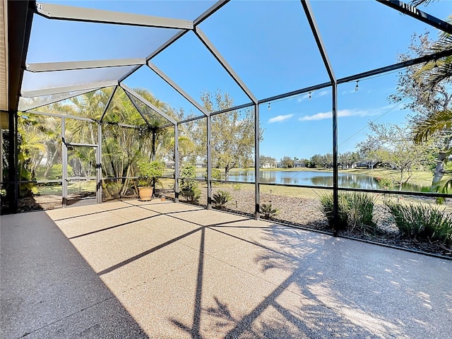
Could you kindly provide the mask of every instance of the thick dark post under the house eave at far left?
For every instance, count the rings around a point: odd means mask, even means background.
[[[6,194],[8,196],[8,212],[17,213],[19,199],[18,184],[18,131],[17,112],[8,112],[8,186]]]

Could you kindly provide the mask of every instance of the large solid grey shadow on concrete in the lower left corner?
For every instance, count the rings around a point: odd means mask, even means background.
[[[44,212],[1,218],[1,338],[148,338]]]

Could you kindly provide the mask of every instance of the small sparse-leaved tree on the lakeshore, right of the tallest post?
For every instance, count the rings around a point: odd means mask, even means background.
[[[398,171],[396,182],[399,191],[408,182],[414,169],[429,165],[431,143],[416,144],[411,137],[410,129],[395,124],[375,124],[369,122],[372,131],[367,140],[357,144],[359,152],[370,160],[382,162]]]

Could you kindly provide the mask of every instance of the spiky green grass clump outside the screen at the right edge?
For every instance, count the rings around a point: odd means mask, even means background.
[[[444,209],[422,204],[385,202],[400,233],[410,239],[428,239],[452,245],[452,215]]]

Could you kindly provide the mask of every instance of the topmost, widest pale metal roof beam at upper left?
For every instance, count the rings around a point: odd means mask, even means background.
[[[193,21],[183,19],[143,16],[141,14],[104,11],[93,8],[36,3],[36,13],[49,19],[85,21],[88,23],[113,23],[117,25],[157,28],[193,29]]]

